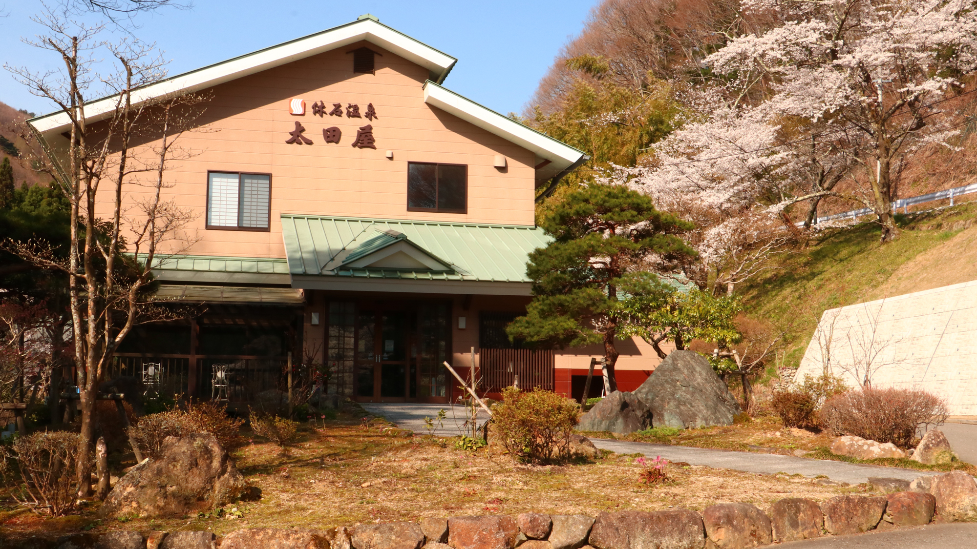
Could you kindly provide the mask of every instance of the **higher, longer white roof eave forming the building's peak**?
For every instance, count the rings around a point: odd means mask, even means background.
[[[375,44],[437,74],[446,74],[457,61],[385,24],[363,19],[167,78],[133,92],[133,104],[138,105],[166,94],[196,92],[285,63],[342,48],[361,40]],[[110,96],[89,104],[86,106],[88,119],[98,120],[101,116],[112,112],[115,102],[116,96]],[[66,113],[58,111],[33,118],[29,123],[42,134],[52,132],[60,134],[67,129],[69,120]]]

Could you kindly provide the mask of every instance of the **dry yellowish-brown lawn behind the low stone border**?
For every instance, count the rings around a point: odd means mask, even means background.
[[[111,518],[93,524],[97,505],[72,521],[38,521],[20,512],[0,515],[0,536],[25,530],[329,528],[358,523],[411,521],[455,515],[515,515],[524,511],[596,515],[601,511],[701,510],[722,501],[766,507],[784,497],[824,500],[867,486],[821,486],[800,476],[756,475],[707,467],[669,465],[663,486],[638,484],[635,456],[563,466],[514,465],[508,455],[482,448],[467,453],[450,439],[404,437],[403,432],[359,421],[303,426],[282,454],[274,443],[234,450],[247,480],[263,498],[238,504],[243,518],[187,517],[165,521]],[[12,507],[8,507],[12,509]],[[229,508],[230,510],[230,508]]]

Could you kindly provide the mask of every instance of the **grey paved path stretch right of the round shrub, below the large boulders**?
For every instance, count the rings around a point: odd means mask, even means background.
[[[805,477],[825,475],[832,481],[851,485],[867,483],[869,477],[892,477],[912,481],[922,475],[932,475],[926,471],[914,471],[912,469],[807,459],[772,453],[716,450],[668,444],[625,443],[606,439],[592,439],[591,442],[599,448],[614,450],[617,453],[660,455],[669,461],[684,461],[691,465],[705,465],[720,469],[746,471],[747,473],[786,473],[788,475],[799,473]]]

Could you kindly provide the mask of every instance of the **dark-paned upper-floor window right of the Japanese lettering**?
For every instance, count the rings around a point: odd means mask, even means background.
[[[468,166],[407,162],[407,211],[467,213]]]

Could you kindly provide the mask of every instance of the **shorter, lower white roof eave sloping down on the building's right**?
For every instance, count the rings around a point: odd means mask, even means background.
[[[459,96],[430,80],[424,84],[424,103],[437,106],[506,141],[531,150],[540,158],[549,160],[550,163],[539,170],[539,172],[546,172],[547,177],[552,177],[552,175],[570,168],[584,155],[582,150],[537,132],[512,118]]]

